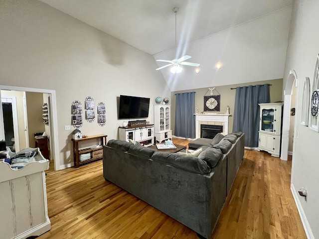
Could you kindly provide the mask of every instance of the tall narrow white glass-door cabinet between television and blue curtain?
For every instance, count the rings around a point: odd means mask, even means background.
[[[171,138],[169,105],[154,105],[154,125],[157,141],[162,142]]]

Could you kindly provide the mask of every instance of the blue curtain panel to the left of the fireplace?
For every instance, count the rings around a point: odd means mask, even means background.
[[[195,138],[195,92],[176,94],[174,135]]]

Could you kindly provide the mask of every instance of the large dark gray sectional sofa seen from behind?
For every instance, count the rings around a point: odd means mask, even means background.
[[[233,143],[226,137],[197,157],[112,139],[103,146],[103,175],[209,239],[244,155],[244,134]]]

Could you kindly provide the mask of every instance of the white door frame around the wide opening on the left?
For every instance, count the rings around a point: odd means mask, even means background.
[[[60,155],[59,155],[59,147],[58,147],[58,125],[57,125],[57,110],[56,110],[56,95],[54,90],[46,90],[46,89],[36,89],[36,88],[27,88],[27,87],[16,87],[16,86],[3,86],[0,85],[0,90],[7,91],[24,91],[24,92],[36,92],[36,93],[46,93],[51,97],[51,113],[52,113],[52,132],[50,132],[50,141],[52,141],[51,148],[51,157],[54,159],[54,169],[60,170]],[[1,120],[1,119],[0,119]],[[1,130],[1,129],[0,129]]]

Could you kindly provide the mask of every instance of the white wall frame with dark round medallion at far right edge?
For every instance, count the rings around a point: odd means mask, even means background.
[[[319,117],[318,117],[318,108],[319,108],[319,54],[317,55],[316,66],[314,70],[314,80],[313,80],[313,92],[310,103],[310,120],[309,126],[315,131],[319,131]]]

